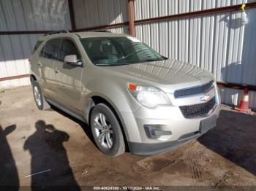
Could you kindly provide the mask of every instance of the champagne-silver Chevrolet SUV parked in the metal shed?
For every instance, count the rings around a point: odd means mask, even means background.
[[[45,34],[30,62],[37,107],[51,104],[88,123],[105,155],[167,152],[206,133],[219,117],[211,72],[167,59],[132,36]]]

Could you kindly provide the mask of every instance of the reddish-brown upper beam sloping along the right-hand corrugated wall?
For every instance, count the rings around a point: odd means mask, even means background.
[[[246,9],[252,9],[252,8],[256,8],[256,2],[246,4]],[[187,17],[199,17],[199,16],[213,15],[213,14],[224,13],[224,12],[233,12],[233,11],[238,11],[238,10],[241,10],[241,4],[228,6],[228,7],[219,7],[219,8],[214,8],[214,9],[205,9],[205,10],[200,10],[200,11],[195,11],[195,12],[185,12],[185,13],[181,13],[181,14],[177,14],[177,15],[167,15],[167,16],[163,16],[163,17],[153,17],[153,18],[148,18],[148,19],[143,19],[143,20],[135,20],[135,25],[145,24],[145,23],[155,23],[155,22],[160,22],[160,21],[165,21],[165,20],[184,19]]]

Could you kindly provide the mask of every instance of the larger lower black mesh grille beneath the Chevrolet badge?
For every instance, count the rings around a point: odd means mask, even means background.
[[[180,106],[181,113],[185,118],[205,117],[216,104],[215,96],[210,101],[203,104],[195,104],[191,106]]]

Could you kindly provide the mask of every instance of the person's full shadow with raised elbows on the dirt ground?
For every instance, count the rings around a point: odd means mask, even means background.
[[[72,190],[80,190],[69,166],[64,141],[69,135],[39,120],[35,124],[36,131],[23,146],[31,155],[31,187],[49,187],[58,185],[72,186]]]

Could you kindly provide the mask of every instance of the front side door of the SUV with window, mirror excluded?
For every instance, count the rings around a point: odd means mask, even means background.
[[[81,59],[80,52],[75,46],[72,39],[61,39],[61,47],[59,56],[54,64],[56,74],[58,102],[67,109],[80,114],[83,106],[80,106],[81,98],[81,77],[83,74],[82,66],[72,66],[69,63],[64,63],[66,55],[77,55]]]

